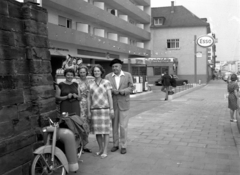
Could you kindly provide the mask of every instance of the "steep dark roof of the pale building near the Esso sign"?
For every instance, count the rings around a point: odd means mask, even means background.
[[[173,12],[172,12],[173,11]],[[206,18],[199,18],[186,9],[184,6],[169,6],[152,8],[152,17],[163,17],[163,25],[152,25],[152,28],[172,28],[172,27],[199,27],[210,25],[206,22]]]

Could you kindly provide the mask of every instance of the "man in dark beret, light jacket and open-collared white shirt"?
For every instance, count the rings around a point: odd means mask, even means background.
[[[112,73],[106,76],[110,81],[113,97],[114,119],[112,119],[113,128],[113,147],[112,152],[121,148],[121,154],[127,153],[127,131],[130,107],[130,93],[133,90],[132,75],[128,72],[122,71],[123,62],[119,59],[111,61]],[[119,138],[120,128],[120,138]]]

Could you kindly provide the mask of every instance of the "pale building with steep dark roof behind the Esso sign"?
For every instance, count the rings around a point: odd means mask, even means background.
[[[200,19],[183,6],[152,8],[151,57],[175,58],[178,61],[176,74],[179,78],[195,81],[194,74],[194,35],[210,34],[210,25],[206,19]],[[207,83],[211,77],[211,63],[208,63],[209,51],[197,47],[197,81]],[[210,58],[211,59],[211,58]],[[153,82],[165,70],[172,68],[166,63],[148,67],[149,81]]]

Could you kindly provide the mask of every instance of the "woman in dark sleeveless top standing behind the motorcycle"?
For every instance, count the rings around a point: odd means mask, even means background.
[[[68,112],[69,114],[75,113],[80,116],[80,105],[79,101],[81,99],[78,83],[72,82],[75,72],[73,69],[66,69],[64,71],[64,76],[66,80],[59,83],[56,88],[56,98],[61,101],[60,111]]]

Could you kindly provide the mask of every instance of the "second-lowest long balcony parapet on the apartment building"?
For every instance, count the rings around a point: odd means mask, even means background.
[[[115,2],[115,0],[113,1]],[[132,25],[129,22],[83,0],[71,0],[71,3],[65,0],[46,0],[43,1],[43,7],[50,7],[59,11],[64,11],[66,14],[71,14],[76,18],[84,18],[91,23],[101,24],[101,26],[116,31],[117,33],[131,36],[138,40],[150,40],[150,32]],[[138,7],[135,6],[135,8],[141,11]],[[145,14],[144,12],[142,13]]]

